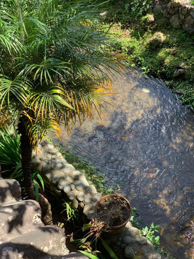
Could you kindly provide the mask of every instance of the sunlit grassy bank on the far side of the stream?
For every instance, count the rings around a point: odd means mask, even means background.
[[[125,9],[125,2],[110,1],[103,10],[108,15],[101,28],[116,37],[109,50],[122,53],[130,65],[137,65],[143,73],[164,79],[174,92],[180,92],[183,104],[194,107],[194,37],[182,29],[172,28],[162,14],[154,15],[153,24],[147,26],[147,15],[135,17]],[[163,33],[166,39],[151,46],[150,39],[157,32]],[[180,64],[187,68],[186,73],[174,77]]]

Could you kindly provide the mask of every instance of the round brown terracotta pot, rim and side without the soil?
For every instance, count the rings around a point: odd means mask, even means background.
[[[105,195],[104,197],[102,197],[97,203],[96,203],[96,206],[95,206],[95,216],[97,215],[97,210],[98,210],[98,207],[99,207],[99,204],[102,203],[106,198],[120,198],[122,201],[126,201],[125,205],[127,206],[129,212],[130,212],[130,215],[129,215],[129,218],[122,224],[122,225],[119,225],[119,226],[110,226],[109,229],[106,231],[108,234],[111,234],[111,235],[115,235],[115,234],[119,234],[122,232],[123,228],[126,226],[127,222],[130,220],[131,218],[131,215],[132,215],[132,207],[130,205],[130,202],[125,199],[124,197],[122,197],[121,195],[117,195],[117,194],[110,194],[110,195]],[[127,210],[126,208],[126,210]]]

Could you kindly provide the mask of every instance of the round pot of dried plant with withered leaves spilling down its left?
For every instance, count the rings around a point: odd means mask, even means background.
[[[96,244],[100,238],[105,249],[112,254],[112,250],[105,244],[100,235],[102,232],[107,232],[112,235],[122,232],[130,220],[131,214],[132,207],[129,201],[121,195],[111,194],[102,197],[96,204],[95,218],[93,218],[89,224],[83,225],[82,230],[87,230],[87,234],[80,239],[82,243],[80,247],[85,249],[84,252],[94,254],[98,251],[92,252],[91,245],[93,242]]]

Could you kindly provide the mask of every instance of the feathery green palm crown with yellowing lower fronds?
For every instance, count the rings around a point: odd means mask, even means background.
[[[22,122],[35,144],[48,131],[59,136],[59,123],[71,129],[102,112],[123,64],[105,49],[112,39],[93,26],[97,8],[85,0],[1,1],[1,124]]]

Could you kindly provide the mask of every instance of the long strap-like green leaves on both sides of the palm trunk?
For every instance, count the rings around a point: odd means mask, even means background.
[[[20,135],[16,133],[13,125],[13,134],[7,127],[0,129],[0,165],[4,179],[17,180],[22,188],[22,195],[26,194],[24,186],[24,176],[21,165]],[[44,191],[44,182],[37,172],[32,174],[33,184],[35,187],[36,200],[38,201],[39,188]]]

